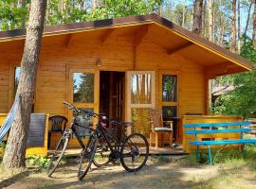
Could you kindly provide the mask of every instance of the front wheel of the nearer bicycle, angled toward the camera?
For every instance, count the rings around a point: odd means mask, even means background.
[[[95,151],[97,148],[98,138],[96,135],[91,134],[87,145],[81,152],[81,159],[79,163],[78,179],[82,180],[89,171],[94,159]]]

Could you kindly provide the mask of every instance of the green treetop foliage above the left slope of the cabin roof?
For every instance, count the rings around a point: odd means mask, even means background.
[[[30,0],[19,5],[17,0],[0,0],[0,30],[24,28]],[[46,25],[58,25],[148,14],[158,9],[162,0],[105,0],[92,9],[92,1],[50,0],[46,9]]]

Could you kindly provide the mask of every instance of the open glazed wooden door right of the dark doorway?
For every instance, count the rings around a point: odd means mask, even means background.
[[[155,108],[155,72],[129,71],[127,78],[127,121],[134,123],[132,132],[149,137],[150,110]]]

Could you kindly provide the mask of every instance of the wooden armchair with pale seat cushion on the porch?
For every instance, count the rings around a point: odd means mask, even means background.
[[[158,147],[158,139],[159,134],[168,134],[169,135],[169,145],[172,148],[173,147],[173,135],[174,135],[174,129],[173,121],[163,121],[162,112],[158,110],[152,110],[150,112],[151,117],[151,131],[150,131],[150,146],[152,146],[152,139],[153,134],[155,134],[155,147]],[[164,127],[164,123],[168,124],[170,128]],[[162,144],[161,144],[162,145]]]

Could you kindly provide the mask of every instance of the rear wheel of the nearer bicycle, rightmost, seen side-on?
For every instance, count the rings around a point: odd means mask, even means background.
[[[137,172],[148,160],[149,144],[144,135],[134,133],[126,138],[120,152],[120,163],[123,168],[128,172]]]

